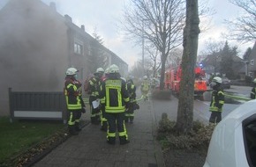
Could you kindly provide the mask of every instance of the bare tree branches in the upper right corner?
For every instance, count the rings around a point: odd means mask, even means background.
[[[235,20],[225,20],[230,29],[228,39],[243,42],[256,40],[256,1],[230,0],[230,3],[242,8],[245,14]]]

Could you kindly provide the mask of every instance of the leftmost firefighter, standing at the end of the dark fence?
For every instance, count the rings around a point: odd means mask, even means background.
[[[70,134],[79,134],[79,120],[81,113],[86,113],[86,105],[82,99],[82,84],[77,80],[78,69],[66,70],[64,82],[64,95],[69,112],[68,127]]]

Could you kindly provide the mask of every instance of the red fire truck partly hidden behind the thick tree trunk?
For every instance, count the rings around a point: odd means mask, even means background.
[[[205,91],[207,91],[207,80],[205,79],[206,74],[203,69],[196,67],[195,72],[195,82],[194,82],[194,94],[195,96],[202,96]],[[170,89],[173,93],[179,93],[179,85],[181,80],[181,66],[175,68],[167,69],[165,72],[165,88]]]

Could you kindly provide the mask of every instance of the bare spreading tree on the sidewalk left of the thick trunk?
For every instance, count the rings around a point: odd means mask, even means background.
[[[169,51],[182,43],[184,0],[131,0],[124,11],[124,30],[132,40],[153,44],[161,53],[160,88],[164,87],[165,62]],[[143,61],[143,60],[142,60]]]

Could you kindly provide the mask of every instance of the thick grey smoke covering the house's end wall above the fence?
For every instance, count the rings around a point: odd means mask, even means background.
[[[68,68],[64,18],[39,0],[10,0],[0,11],[0,114],[13,91],[63,91]]]

